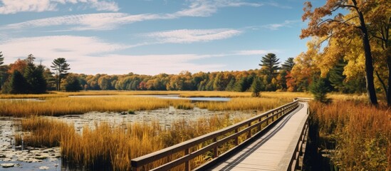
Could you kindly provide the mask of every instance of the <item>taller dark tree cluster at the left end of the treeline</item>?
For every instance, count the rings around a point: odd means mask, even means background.
[[[0,52],[0,88],[1,93],[40,94],[47,90],[78,91],[83,88],[79,78],[67,73],[69,64],[64,58],[53,61],[51,69],[34,63],[36,58],[30,54],[27,58],[1,66],[4,57]],[[62,79],[64,78],[64,79]],[[62,86],[62,88],[61,88]]]

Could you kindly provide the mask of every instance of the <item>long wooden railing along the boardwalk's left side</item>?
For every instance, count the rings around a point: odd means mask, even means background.
[[[203,155],[205,152],[213,152],[213,160],[216,160],[219,157],[218,147],[224,145],[224,143],[228,143],[230,140],[234,140],[234,145],[236,147],[243,145],[246,141],[250,140],[251,137],[258,135],[261,133],[261,130],[264,130],[269,127],[272,123],[279,120],[282,116],[291,112],[295,108],[298,107],[298,100],[293,100],[293,102],[288,103],[286,105],[282,105],[281,107],[275,108],[273,110],[269,110],[266,113],[262,113],[261,115],[254,116],[253,118],[249,118],[248,120],[241,121],[240,123],[236,123],[227,128],[223,128],[221,130],[214,131],[212,133],[208,133],[206,135],[199,136],[192,140],[187,140],[185,142],[181,142],[177,145],[173,145],[171,147],[167,147],[165,149],[159,150],[157,152],[152,152],[148,155],[144,155],[141,157],[137,157],[131,161],[132,170],[147,170],[150,168],[145,168],[144,166],[155,162],[157,160],[161,160],[163,158],[170,157],[177,152],[183,152],[184,155],[175,160],[165,163],[164,165],[160,165],[152,170],[169,170],[178,165],[184,164],[184,170],[190,170],[190,160],[198,157],[199,155]],[[262,128],[262,125],[265,123],[265,127]],[[251,135],[252,130],[258,130],[258,132]],[[254,132],[254,131],[253,131]],[[247,133],[246,140],[239,143],[239,136]],[[202,147],[198,150],[191,151],[194,147],[200,144],[204,144],[206,142],[212,143]],[[233,150],[231,149],[231,150]],[[229,150],[229,151],[231,151]],[[224,152],[221,155],[226,154]],[[212,161],[213,161],[212,160]],[[211,162],[211,161],[209,161]]]

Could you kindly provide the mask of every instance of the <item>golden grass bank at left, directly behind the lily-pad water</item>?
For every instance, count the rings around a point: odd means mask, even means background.
[[[170,100],[137,96],[113,96],[105,98],[50,98],[35,101],[0,101],[0,115],[25,117],[29,115],[70,115],[90,111],[154,110],[170,105],[190,105],[189,100]]]

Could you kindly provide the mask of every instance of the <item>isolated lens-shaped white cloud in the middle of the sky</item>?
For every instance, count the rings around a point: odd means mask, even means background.
[[[160,43],[192,43],[230,38],[232,36],[237,36],[240,33],[241,31],[227,28],[203,30],[182,29],[147,33],[145,36],[155,38]]]

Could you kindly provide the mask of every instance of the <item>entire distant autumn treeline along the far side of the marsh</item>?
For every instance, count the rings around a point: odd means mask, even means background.
[[[273,53],[261,58],[260,69],[212,73],[183,71],[179,74],[161,73],[156,76],[135,73],[95,76],[67,73],[69,64],[64,58],[55,59],[52,70],[41,64],[34,64],[34,59],[29,55],[24,60],[19,59],[15,63],[0,66],[3,93],[45,93],[46,90],[226,90],[252,91],[254,96],[258,96],[260,91],[308,91],[313,80],[313,76],[306,76],[303,70],[297,72],[293,58],[288,58],[280,65],[279,59]],[[346,80],[343,75],[345,65],[346,63],[341,62],[328,73],[328,90],[343,93],[364,92],[363,78]]]

